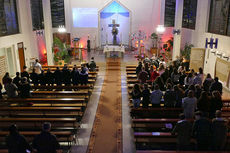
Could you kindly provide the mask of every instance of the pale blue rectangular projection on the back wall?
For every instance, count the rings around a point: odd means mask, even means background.
[[[73,26],[77,28],[97,28],[97,8],[73,8]]]

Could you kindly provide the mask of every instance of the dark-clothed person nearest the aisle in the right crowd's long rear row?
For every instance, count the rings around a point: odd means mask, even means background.
[[[132,99],[134,108],[138,108],[141,102],[141,90],[139,84],[135,84],[132,90]]]

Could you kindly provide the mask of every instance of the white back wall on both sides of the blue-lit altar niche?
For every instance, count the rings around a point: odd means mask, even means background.
[[[71,32],[73,37],[81,37],[84,47],[88,34],[90,35],[91,43],[99,45],[98,28],[74,28],[72,22],[72,8],[97,8],[100,11],[104,6],[110,3],[111,0],[67,0],[65,1],[67,31]],[[144,30],[147,35],[151,35],[160,24],[160,9],[161,0],[120,0],[121,4],[127,7],[132,13],[131,33],[138,30]],[[71,23],[71,24],[69,24]],[[71,26],[70,26],[71,25]],[[123,36],[122,36],[123,37]],[[93,45],[92,45],[93,46]]]

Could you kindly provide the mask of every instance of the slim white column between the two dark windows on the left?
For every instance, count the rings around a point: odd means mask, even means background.
[[[43,16],[44,16],[44,27],[45,27],[47,62],[48,65],[54,65],[53,53],[52,53],[53,29],[52,29],[50,1],[42,0],[42,6],[43,6]]]

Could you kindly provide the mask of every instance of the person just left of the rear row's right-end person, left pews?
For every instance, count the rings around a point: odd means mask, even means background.
[[[8,98],[14,98],[18,96],[18,87],[13,83],[13,80],[11,78],[8,78],[8,84],[6,84],[6,94]]]

